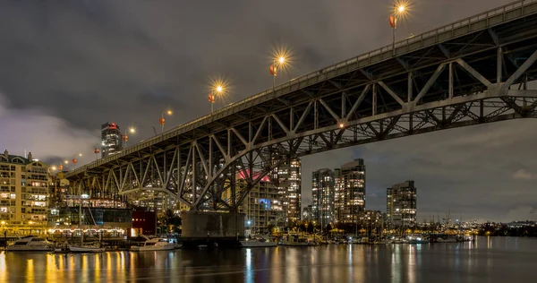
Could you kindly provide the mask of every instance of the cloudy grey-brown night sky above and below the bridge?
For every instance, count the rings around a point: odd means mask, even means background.
[[[413,0],[398,38],[508,0]],[[391,1],[4,0],[0,2],[0,150],[59,162],[95,159],[100,125],[136,125],[130,142],[209,113],[209,81],[230,91],[216,107],[272,86],[273,51],[286,47],[283,82],[391,43]],[[534,88],[534,86],[533,86]],[[378,142],[303,159],[311,171],[355,158],[367,165],[369,210],[386,188],[414,179],[418,220],[537,219],[537,121],[485,124]]]

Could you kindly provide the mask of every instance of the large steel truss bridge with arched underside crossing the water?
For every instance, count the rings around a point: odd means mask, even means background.
[[[537,0],[507,4],[288,81],[65,176],[74,192],[150,190],[191,210],[236,211],[289,159],[535,117],[536,27]]]

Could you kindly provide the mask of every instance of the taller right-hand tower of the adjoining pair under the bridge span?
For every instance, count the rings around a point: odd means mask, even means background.
[[[354,223],[365,211],[365,165],[363,159],[346,163],[335,174],[336,219]]]

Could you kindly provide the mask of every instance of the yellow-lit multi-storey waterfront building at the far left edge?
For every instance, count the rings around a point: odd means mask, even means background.
[[[49,167],[38,159],[0,155],[0,223],[8,234],[47,226]],[[26,232],[22,230],[28,230]]]

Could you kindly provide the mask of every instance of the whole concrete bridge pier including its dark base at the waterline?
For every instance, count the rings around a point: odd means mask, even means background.
[[[238,247],[244,238],[244,219],[242,213],[183,211],[183,248],[198,248],[215,243],[218,247]]]

